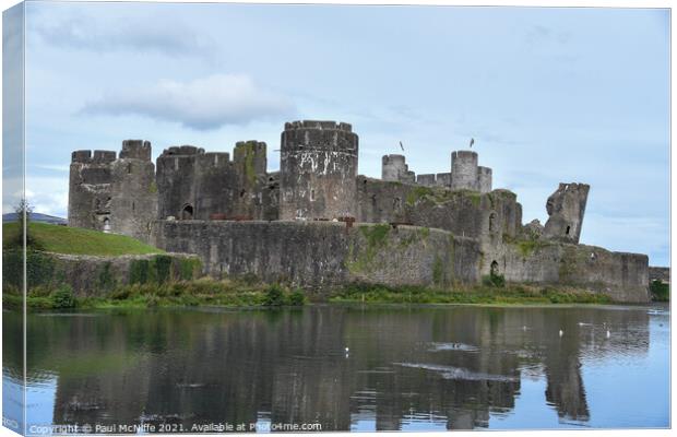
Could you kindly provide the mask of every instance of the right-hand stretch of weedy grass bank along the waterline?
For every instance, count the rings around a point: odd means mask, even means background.
[[[378,304],[610,304],[603,294],[573,288],[507,285],[477,285],[458,290],[435,290],[415,286],[351,285],[336,292],[330,302],[364,302]]]

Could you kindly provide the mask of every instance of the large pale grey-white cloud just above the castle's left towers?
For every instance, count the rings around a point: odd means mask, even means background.
[[[85,104],[84,114],[141,115],[197,130],[289,116],[292,102],[259,87],[245,74],[215,74],[192,82],[161,81],[146,88],[107,93]]]

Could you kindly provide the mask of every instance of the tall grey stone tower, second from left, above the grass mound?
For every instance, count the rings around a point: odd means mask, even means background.
[[[151,222],[157,218],[155,165],[151,143],[122,142],[119,158],[111,164],[110,231],[149,241]]]

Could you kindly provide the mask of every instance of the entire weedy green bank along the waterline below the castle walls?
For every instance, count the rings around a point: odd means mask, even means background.
[[[68,286],[50,293],[37,288],[28,293],[26,303],[34,310],[108,309],[153,307],[280,307],[299,306],[309,300],[299,288],[263,285],[246,281],[215,281],[203,277],[167,284],[134,284],[118,287],[102,297],[76,298]],[[392,288],[378,285],[351,285],[330,295],[331,303],[366,304],[475,304],[475,305],[553,305],[610,304],[606,295],[577,290],[555,290],[510,285],[506,287],[474,286],[454,291],[421,287]],[[7,308],[21,306],[19,293],[4,293]]]

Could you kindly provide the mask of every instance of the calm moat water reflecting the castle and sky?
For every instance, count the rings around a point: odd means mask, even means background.
[[[5,420],[21,332],[4,312]],[[41,314],[27,341],[31,434],[669,426],[667,306]]]

